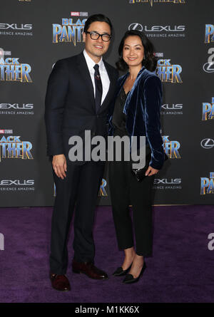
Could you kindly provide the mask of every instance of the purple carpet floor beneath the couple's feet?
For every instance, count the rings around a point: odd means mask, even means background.
[[[68,242],[68,279],[71,291],[51,289],[49,241],[51,207],[1,208],[0,302],[2,303],[203,303],[213,302],[214,250],[208,234],[214,232],[214,206],[154,207],[153,257],[137,284],[122,284],[111,276],[121,265],[111,207],[98,207],[94,239],[95,264],[109,274],[107,281],[73,274],[73,230]],[[214,243],[213,243],[214,245]]]

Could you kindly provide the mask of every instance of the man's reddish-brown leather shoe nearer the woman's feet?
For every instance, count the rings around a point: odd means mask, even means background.
[[[73,273],[86,274],[91,279],[108,279],[106,272],[101,271],[92,262],[72,262]]]

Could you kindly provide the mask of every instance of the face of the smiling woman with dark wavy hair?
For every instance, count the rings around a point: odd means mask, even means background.
[[[128,66],[141,66],[144,48],[139,36],[128,36],[123,45],[123,60]]]

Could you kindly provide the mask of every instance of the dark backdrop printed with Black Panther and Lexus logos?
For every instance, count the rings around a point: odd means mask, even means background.
[[[113,23],[106,55],[111,65],[128,29],[145,32],[156,48],[163,144],[170,159],[156,176],[154,204],[213,204],[213,11],[213,0],[1,0],[1,207],[54,203],[46,83],[58,59],[83,51],[83,26],[96,13]],[[98,204],[111,204],[106,175]]]

